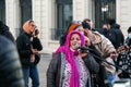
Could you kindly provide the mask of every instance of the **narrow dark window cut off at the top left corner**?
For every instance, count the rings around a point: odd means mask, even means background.
[[[5,0],[0,0],[0,21],[5,23]]]

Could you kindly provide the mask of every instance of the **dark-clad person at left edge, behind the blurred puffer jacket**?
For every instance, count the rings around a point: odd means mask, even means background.
[[[9,30],[9,27],[0,21],[0,35],[15,42],[13,35]]]

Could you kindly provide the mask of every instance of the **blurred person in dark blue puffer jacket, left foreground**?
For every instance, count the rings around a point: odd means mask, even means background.
[[[24,87],[16,48],[2,36],[0,36],[0,87]]]

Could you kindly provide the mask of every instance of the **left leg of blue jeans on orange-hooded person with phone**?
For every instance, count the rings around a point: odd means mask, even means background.
[[[29,67],[23,67],[22,70],[24,75],[25,87],[28,87]]]

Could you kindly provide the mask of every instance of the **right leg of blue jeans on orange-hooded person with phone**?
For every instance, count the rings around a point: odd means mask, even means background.
[[[32,63],[29,66],[29,77],[32,78],[32,87],[39,87],[38,69],[34,63]]]

